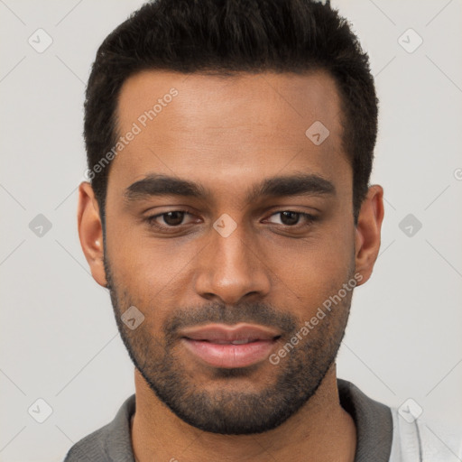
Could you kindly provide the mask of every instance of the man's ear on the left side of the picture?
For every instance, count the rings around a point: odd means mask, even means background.
[[[79,239],[83,253],[90,266],[93,279],[106,287],[106,272],[103,263],[103,226],[93,188],[88,181],[79,185],[79,206],[77,211]]]

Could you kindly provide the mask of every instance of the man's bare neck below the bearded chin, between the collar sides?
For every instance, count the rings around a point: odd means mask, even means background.
[[[300,411],[276,429],[252,435],[220,435],[196,429],[159,401],[137,369],[134,378],[132,445],[137,462],[355,459],[356,426],[340,405],[335,364]]]

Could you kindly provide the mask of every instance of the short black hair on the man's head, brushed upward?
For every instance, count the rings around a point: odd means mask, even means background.
[[[116,111],[122,85],[147,69],[224,76],[327,71],[341,98],[342,144],[353,170],[357,223],[372,170],[378,100],[367,54],[329,2],[154,0],[115,28],[97,51],[85,101],[89,179],[103,226],[111,165],[95,167],[119,137]]]

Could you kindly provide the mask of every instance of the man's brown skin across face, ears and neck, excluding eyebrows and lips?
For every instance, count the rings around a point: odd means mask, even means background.
[[[383,189],[369,189],[355,226],[335,81],[321,71],[226,79],[143,71],[121,90],[120,134],[171,88],[178,96],[110,167],[105,239],[91,186],[79,188],[80,243],[94,279],[110,290],[136,366],[134,454],[142,462],[352,461],[356,428],[339,404],[335,367],[352,291],[277,365],[205,365],[175,328],[266,323],[282,333],[278,351],[342,284],[369,279]],[[319,145],[305,135],[317,120],[330,132]],[[261,181],[300,173],[330,181],[335,193],[247,200]],[[148,174],[194,181],[208,195],[127,201],[125,189]],[[190,214],[180,226],[147,221],[174,210]],[[290,226],[284,210],[317,218]],[[227,237],[213,227],[225,213],[236,222]],[[130,306],[144,316],[134,330],[120,319]]]

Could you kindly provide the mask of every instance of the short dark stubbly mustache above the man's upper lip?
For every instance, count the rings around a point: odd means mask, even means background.
[[[279,328],[290,334],[299,324],[298,319],[288,313],[275,310],[272,305],[262,302],[245,302],[228,306],[214,302],[200,307],[175,310],[162,326],[165,337],[174,339],[183,328],[199,327],[210,323],[233,325],[240,322],[260,324]]]

